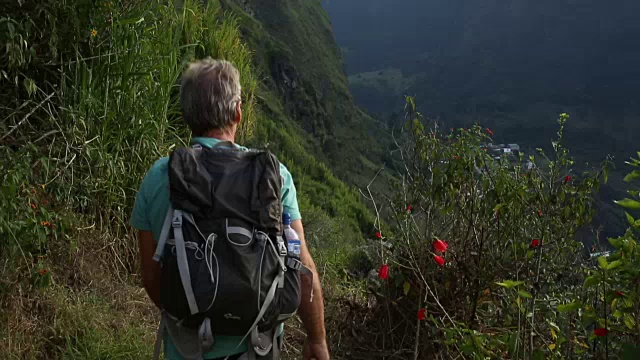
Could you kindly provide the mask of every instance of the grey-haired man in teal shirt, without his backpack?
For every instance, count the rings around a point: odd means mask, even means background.
[[[182,77],[180,102],[183,118],[193,133],[192,145],[213,147],[220,142],[237,149],[246,148],[235,144],[235,134],[242,121],[240,75],[227,61],[201,60],[191,64]],[[219,145],[218,145],[219,146]],[[153,260],[156,242],[169,209],[168,158],[162,158],[151,167],[145,176],[136,198],[131,225],[138,230],[142,278],[144,287],[160,307],[160,265]],[[307,248],[301,215],[298,208],[296,188],[291,173],[280,165],[283,178],[282,204],[284,212],[291,214],[291,227],[300,236],[302,263],[311,269],[318,279],[313,259]],[[324,304],[319,281],[302,277],[302,302],[298,310],[307,339],[304,344],[304,359],[329,359],[324,328]],[[313,287],[313,289],[312,289]],[[313,293],[312,293],[313,290]],[[314,296],[312,297],[311,294]],[[164,335],[165,358],[180,359],[171,338]],[[241,338],[216,336],[211,351],[205,359],[234,359],[245,352],[247,344],[238,347]]]

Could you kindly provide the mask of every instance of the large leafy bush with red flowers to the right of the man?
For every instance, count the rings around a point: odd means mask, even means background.
[[[401,181],[394,197],[376,202],[393,218],[378,247],[389,279],[379,282],[378,315],[367,324],[381,356],[595,356],[575,316],[581,303],[572,303],[585,280],[575,239],[607,164],[572,173],[566,114],[550,156],[494,160],[491,130],[428,126],[411,98],[407,113]]]

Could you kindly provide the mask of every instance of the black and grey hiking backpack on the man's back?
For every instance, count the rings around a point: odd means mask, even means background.
[[[249,338],[243,359],[278,359],[276,328],[300,305],[300,272],[310,272],[283,238],[280,163],[225,144],[169,158],[171,206],[154,256],[163,310],[156,356],[168,331],[186,359],[200,359],[214,334]]]

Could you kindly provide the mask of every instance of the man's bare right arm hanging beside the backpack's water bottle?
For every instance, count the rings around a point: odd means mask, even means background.
[[[305,330],[307,331],[307,341],[303,349],[304,359],[329,360],[329,351],[327,349],[326,331],[324,328],[324,299],[322,298],[322,286],[320,277],[316,270],[316,264],[313,262],[307,242],[304,238],[304,228],[302,220],[294,220],[291,227],[298,233],[300,237],[300,257],[302,263],[308,267],[313,273],[313,301],[311,301],[311,278],[309,276],[301,276],[302,300],[298,314],[302,319]]]

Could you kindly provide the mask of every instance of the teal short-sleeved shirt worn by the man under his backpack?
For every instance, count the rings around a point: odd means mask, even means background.
[[[220,140],[214,138],[193,138],[191,144],[201,144],[205,147],[213,147]],[[247,150],[247,148],[234,145],[238,149]],[[293,184],[293,178],[289,170],[280,164],[280,176],[284,180],[282,187],[282,205],[284,212],[291,214],[291,220],[299,220],[302,218],[298,207],[298,198],[296,195],[296,187]],[[164,218],[169,210],[169,158],[164,157],[153,164],[147,175],[142,180],[142,185],[138,191],[136,202],[131,214],[131,226],[138,230],[151,231],[156,241],[160,237],[160,231]],[[206,353],[205,359],[215,359],[229,355],[246,352],[246,343],[238,347],[238,343],[242,337],[237,336],[216,336],[213,350]],[[171,339],[165,334],[164,338],[165,359],[179,360],[181,359],[178,351],[171,342]]]

